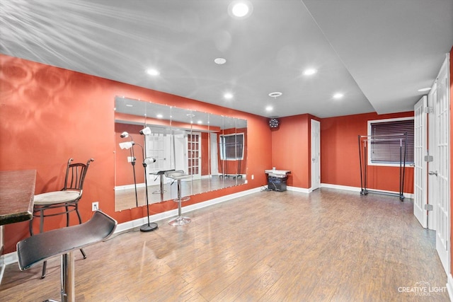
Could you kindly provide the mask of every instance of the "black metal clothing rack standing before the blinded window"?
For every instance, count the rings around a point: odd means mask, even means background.
[[[379,190],[367,189],[367,167],[368,167],[368,151],[367,144],[372,141],[399,141],[399,192],[385,192]],[[391,196],[398,196],[401,202],[404,201],[404,176],[406,174],[406,155],[408,147],[408,133],[403,134],[386,134],[386,135],[359,135],[359,161],[360,161],[360,195],[367,195],[368,193],[385,194]],[[363,154],[362,154],[363,145]],[[362,163],[363,162],[363,163]]]

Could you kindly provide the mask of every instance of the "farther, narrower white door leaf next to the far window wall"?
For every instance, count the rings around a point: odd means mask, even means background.
[[[428,226],[428,211],[425,205],[428,204],[428,183],[427,183],[427,162],[425,156],[428,155],[426,146],[428,124],[426,124],[428,113],[425,108],[428,107],[428,98],[423,96],[414,107],[414,180],[413,180],[413,214],[417,217],[423,228]]]

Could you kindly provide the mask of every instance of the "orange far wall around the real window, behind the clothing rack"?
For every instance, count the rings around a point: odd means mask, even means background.
[[[413,112],[366,113],[321,120],[321,182],[360,187],[358,136],[367,135],[368,120],[413,117]],[[399,192],[399,167],[369,165],[367,188]],[[406,168],[403,192],[413,192],[413,168]]]

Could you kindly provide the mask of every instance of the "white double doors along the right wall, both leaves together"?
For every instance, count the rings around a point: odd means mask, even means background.
[[[449,58],[428,98],[415,105],[413,212],[424,228],[436,231],[436,250],[449,274]]]

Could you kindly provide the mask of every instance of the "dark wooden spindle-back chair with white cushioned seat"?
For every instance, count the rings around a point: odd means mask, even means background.
[[[45,217],[66,214],[66,226],[69,226],[69,214],[75,211],[77,217],[79,217],[79,224],[82,223],[79,213],[79,200],[82,197],[88,166],[94,160],[90,158],[86,163],[72,163],[72,161],[74,160],[69,158],[62,190],[35,195],[33,219],[30,220],[30,236],[33,236],[33,220],[35,217],[40,218],[40,233],[44,229]],[[81,249],[80,251],[86,258],[84,250]],[[46,265],[47,262],[44,262],[41,278],[45,277]]]

